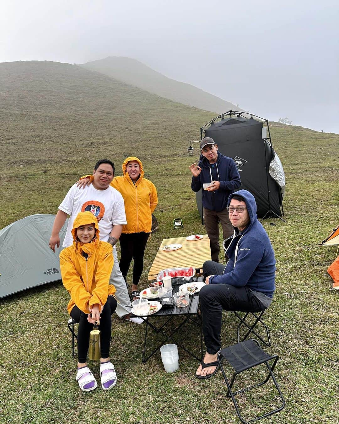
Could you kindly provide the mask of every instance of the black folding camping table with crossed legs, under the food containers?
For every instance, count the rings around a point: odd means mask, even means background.
[[[200,277],[201,278],[201,277]],[[197,277],[193,277],[192,281],[197,281]],[[179,290],[180,285],[173,285],[173,294],[177,293]],[[158,299],[154,299],[158,300]],[[151,302],[151,300],[150,300]],[[147,360],[150,359],[150,357],[158,351],[161,346],[167,342],[167,340],[171,340],[173,343],[181,347],[181,349],[185,350],[187,353],[192,355],[195,359],[198,361],[201,361],[203,359],[203,324],[201,320],[201,316],[198,314],[198,307],[199,307],[199,293],[195,295],[189,296],[189,305],[184,308],[178,308],[177,306],[174,306],[172,308],[161,308],[160,311],[156,312],[153,315],[149,315],[147,318],[144,319],[146,323],[146,329],[145,329],[145,338],[144,338],[144,350],[142,352],[142,362],[147,362]],[[181,324],[175,327],[174,330],[168,332],[166,329],[166,324],[172,320],[173,317],[182,317],[183,320],[181,321]],[[154,322],[154,318],[166,318],[165,322],[158,326],[158,320]],[[151,322],[152,321],[152,322]],[[183,346],[182,343],[178,342],[177,338],[173,338],[173,335],[178,332],[179,329],[185,324],[187,321],[192,321],[200,328],[200,349],[201,349],[201,357],[198,357],[196,354],[192,353],[187,349],[185,346]],[[146,344],[147,344],[147,332],[148,327],[153,329],[156,333],[161,333],[164,335],[165,339],[162,343],[160,343],[156,349],[152,351],[147,357],[146,355]],[[183,336],[183,340],[185,340],[185,335]]]

